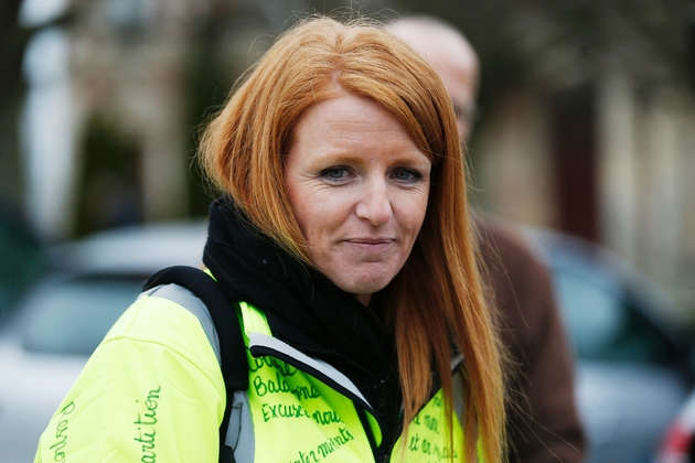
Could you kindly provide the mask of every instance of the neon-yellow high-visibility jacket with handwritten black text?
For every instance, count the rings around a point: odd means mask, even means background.
[[[259,310],[239,308],[247,390],[225,398],[217,333],[202,301],[175,284],[153,289],[95,351],[42,435],[35,462],[216,463],[225,406],[226,443],[237,463],[374,462],[381,430],[354,384],[275,338]],[[447,420],[438,391],[391,459],[462,462],[462,442],[458,413]]]

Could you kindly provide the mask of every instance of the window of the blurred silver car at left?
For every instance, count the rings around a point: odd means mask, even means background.
[[[29,351],[89,355],[135,301],[141,279],[81,278],[39,288],[24,306]]]

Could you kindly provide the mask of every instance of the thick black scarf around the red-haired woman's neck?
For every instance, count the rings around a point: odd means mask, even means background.
[[[395,344],[373,309],[254,230],[226,198],[210,206],[203,262],[228,300],[265,313],[274,336],[346,375],[377,409],[385,438],[393,435]]]

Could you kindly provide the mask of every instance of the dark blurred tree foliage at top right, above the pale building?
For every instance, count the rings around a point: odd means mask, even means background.
[[[606,66],[623,66],[643,85],[692,75],[689,0],[399,3],[403,11],[446,18],[466,32],[481,56],[483,105],[515,85],[581,86]]]

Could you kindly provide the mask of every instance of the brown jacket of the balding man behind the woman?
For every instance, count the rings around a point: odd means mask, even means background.
[[[510,463],[579,463],[585,437],[575,406],[573,357],[550,277],[511,225],[491,217],[478,225],[483,271],[513,362]]]

